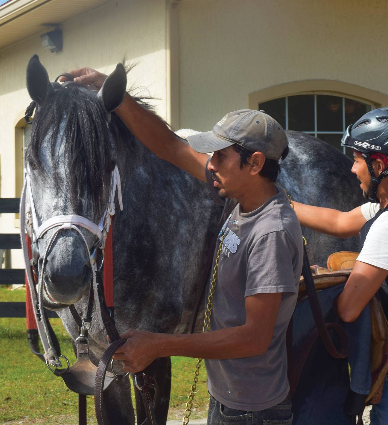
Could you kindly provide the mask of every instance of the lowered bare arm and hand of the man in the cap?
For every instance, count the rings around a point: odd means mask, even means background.
[[[172,335],[129,330],[121,335],[127,338],[127,342],[118,348],[113,358],[122,360],[125,371],[136,372],[156,357],[235,359],[265,354],[271,343],[280,301],[280,293],[246,297],[244,325],[202,334]]]

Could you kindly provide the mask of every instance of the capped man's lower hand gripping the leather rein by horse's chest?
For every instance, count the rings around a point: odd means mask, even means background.
[[[140,372],[156,357],[160,357],[158,334],[129,330],[121,334],[120,338],[127,342],[117,348],[113,360],[121,360],[124,363],[123,371],[125,372]]]

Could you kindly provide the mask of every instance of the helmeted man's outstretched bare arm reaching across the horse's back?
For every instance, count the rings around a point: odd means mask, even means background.
[[[293,202],[296,215],[302,226],[327,235],[339,238],[356,236],[366,223],[361,207],[343,212],[331,208],[313,207],[312,205]]]

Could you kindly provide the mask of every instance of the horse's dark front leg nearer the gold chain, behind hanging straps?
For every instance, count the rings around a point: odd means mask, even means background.
[[[167,421],[168,405],[170,402],[171,391],[171,359],[170,357],[160,357],[153,361],[144,373],[153,377],[159,386],[160,400],[156,407],[155,416],[158,425],[164,425]],[[146,419],[144,403],[140,391],[133,385],[136,399],[136,417],[137,423],[141,424]],[[152,395],[152,394],[151,394]]]

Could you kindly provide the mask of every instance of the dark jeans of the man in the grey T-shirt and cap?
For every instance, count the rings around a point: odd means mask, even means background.
[[[260,411],[231,409],[210,395],[207,425],[292,425],[291,399]]]

